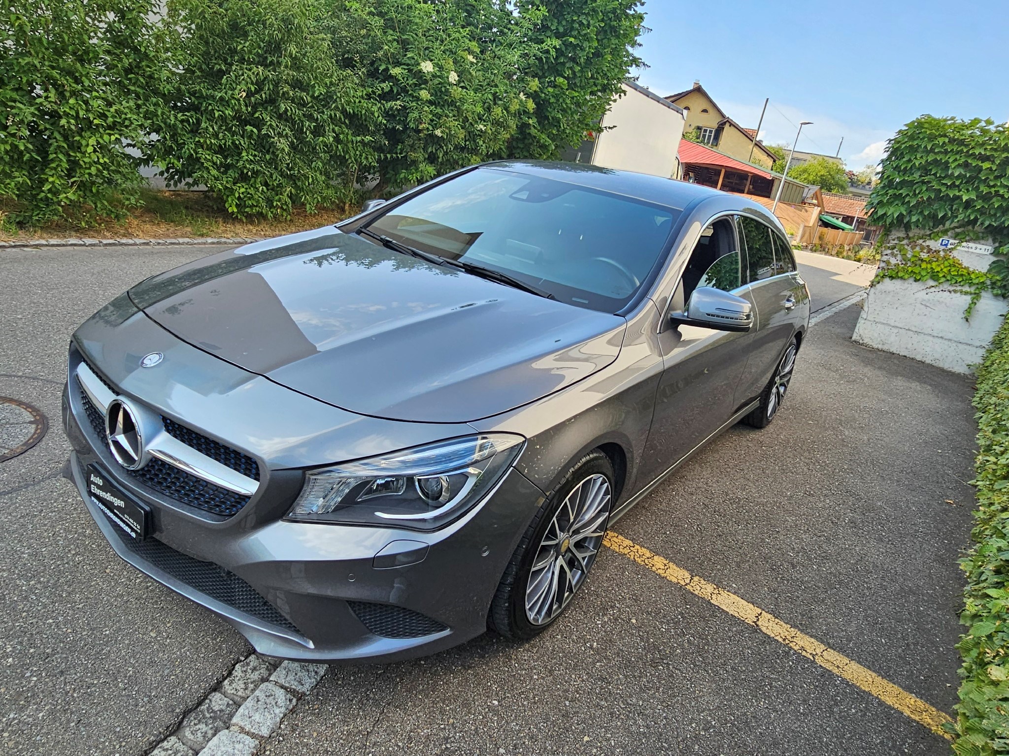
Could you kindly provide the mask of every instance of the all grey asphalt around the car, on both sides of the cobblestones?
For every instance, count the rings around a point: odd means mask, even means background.
[[[139,754],[249,650],[114,556],[59,478],[74,328],[136,280],[212,251],[0,252],[0,395],[52,423],[0,465],[4,754]],[[871,277],[811,257],[800,268],[814,309]],[[815,327],[771,427],[731,430],[614,529],[950,712],[972,387],[852,344],[857,314]],[[614,552],[571,609],[526,645],[486,635],[429,659],[331,669],[266,751],[948,752],[917,723]]]

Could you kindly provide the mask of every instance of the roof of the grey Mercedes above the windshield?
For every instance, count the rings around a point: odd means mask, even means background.
[[[550,160],[499,160],[484,163],[480,167],[513,170],[517,173],[537,175],[565,181],[587,188],[610,192],[614,195],[662,205],[672,210],[683,210],[698,200],[709,198],[733,197],[739,201],[739,207],[761,207],[757,203],[743,197],[726,195],[724,192],[701,186],[673,178],[636,173],[632,170],[605,168],[601,165],[589,165],[581,162],[562,162]]]

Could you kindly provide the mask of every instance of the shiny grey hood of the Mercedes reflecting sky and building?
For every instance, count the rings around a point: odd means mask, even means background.
[[[626,321],[332,227],[198,260],[129,296],[165,330],[343,409],[465,422],[616,359]]]

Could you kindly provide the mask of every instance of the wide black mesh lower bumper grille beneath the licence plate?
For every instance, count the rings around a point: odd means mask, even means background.
[[[215,601],[232,609],[244,612],[257,620],[283,627],[302,635],[294,623],[281,614],[276,608],[255,592],[248,583],[234,573],[212,561],[200,561],[177,551],[156,538],[136,540],[121,528],[113,527],[120,542],[144,561],[166,573],[194,591],[199,591]]]

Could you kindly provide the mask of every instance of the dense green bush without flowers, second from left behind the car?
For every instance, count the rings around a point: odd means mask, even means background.
[[[316,0],[169,0],[174,75],[150,162],[240,218],[349,199],[375,163],[379,110],[362,67],[333,49]]]

